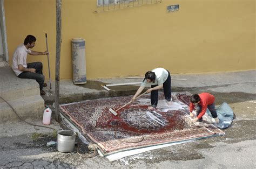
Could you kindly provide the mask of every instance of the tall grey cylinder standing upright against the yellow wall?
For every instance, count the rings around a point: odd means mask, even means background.
[[[86,61],[85,61],[85,40],[82,38],[73,38],[72,44],[72,65],[73,65],[73,83],[86,83]]]

